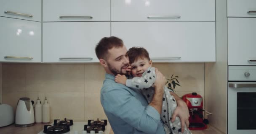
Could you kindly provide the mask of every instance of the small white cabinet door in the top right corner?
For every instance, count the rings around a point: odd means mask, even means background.
[[[228,17],[256,17],[256,0],[227,0]]]

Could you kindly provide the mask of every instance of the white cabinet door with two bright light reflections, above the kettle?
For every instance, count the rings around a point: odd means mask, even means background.
[[[41,23],[0,17],[0,62],[41,62]]]

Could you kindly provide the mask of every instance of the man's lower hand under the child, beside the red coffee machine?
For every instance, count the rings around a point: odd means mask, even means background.
[[[185,124],[187,128],[189,128],[189,109],[187,108],[187,104],[181,100],[176,100],[177,102],[177,108],[173,112],[173,116],[171,119],[171,122],[175,121],[175,117],[178,116],[181,120],[181,133],[184,132]]]

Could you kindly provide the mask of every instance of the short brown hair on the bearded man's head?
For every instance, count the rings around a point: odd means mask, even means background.
[[[102,38],[95,47],[95,52],[98,59],[107,60],[108,50],[112,49],[113,47],[116,47],[116,48],[123,47],[122,39],[119,39],[115,36]]]

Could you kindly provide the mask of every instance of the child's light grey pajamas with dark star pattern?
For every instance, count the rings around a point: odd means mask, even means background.
[[[155,79],[155,68],[149,67],[141,77],[133,77],[126,80],[126,86],[140,90],[148,103],[150,103],[155,93],[155,89],[152,87]],[[171,122],[171,117],[177,107],[177,103],[173,95],[170,94],[170,91],[172,92],[167,87],[164,88],[161,120],[164,124],[166,134],[181,134],[181,121],[179,117],[176,117],[175,121]],[[185,127],[185,131],[182,134],[192,133]]]

